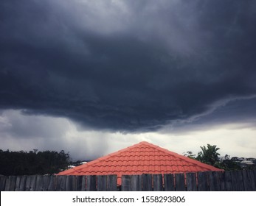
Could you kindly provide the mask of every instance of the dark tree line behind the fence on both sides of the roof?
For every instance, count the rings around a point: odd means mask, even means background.
[[[241,166],[237,159],[230,158],[227,154],[224,160],[220,160],[219,148],[215,145],[207,144],[200,148],[201,152],[198,152],[197,155],[193,152],[186,152],[184,156],[217,168],[223,168],[226,171],[256,168],[256,163],[250,166]],[[71,165],[79,164],[80,161],[72,162],[69,153],[64,150],[38,152],[37,149],[34,149],[30,152],[10,152],[8,149],[7,151],[0,149],[0,175],[58,174]]]

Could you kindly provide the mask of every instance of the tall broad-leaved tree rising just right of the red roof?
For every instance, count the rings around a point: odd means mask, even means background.
[[[200,146],[201,152],[198,152],[198,156],[196,157],[196,160],[201,161],[202,163],[207,163],[211,166],[218,165],[218,156],[220,155],[217,151],[219,148],[216,145],[210,145],[207,143],[206,146]]]

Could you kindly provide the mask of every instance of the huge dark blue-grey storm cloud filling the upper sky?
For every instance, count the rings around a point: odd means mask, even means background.
[[[255,5],[1,1],[0,107],[128,132],[251,96]]]

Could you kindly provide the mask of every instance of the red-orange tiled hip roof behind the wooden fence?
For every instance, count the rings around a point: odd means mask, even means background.
[[[170,174],[198,171],[223,171],[214,166],[170,152],[148,142],[140,142],[97,160],[61,171],[58,175]]]

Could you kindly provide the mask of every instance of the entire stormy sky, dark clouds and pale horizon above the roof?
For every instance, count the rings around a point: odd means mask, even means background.
[[[0,149],[256,157],[255,25],[253,0],[1,0]]]

